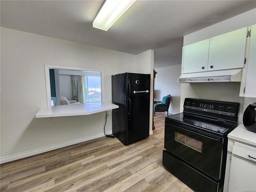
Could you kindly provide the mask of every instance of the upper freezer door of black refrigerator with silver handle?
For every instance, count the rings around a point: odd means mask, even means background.
[[[126,97],[150,96],[150,74],[127,73]]]

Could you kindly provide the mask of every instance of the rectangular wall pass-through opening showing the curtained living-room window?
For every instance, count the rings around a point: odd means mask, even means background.
[[[49,69],[51,105],[101,102],[101,72]]]

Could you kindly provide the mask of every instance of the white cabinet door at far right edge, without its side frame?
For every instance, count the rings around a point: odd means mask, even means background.
[[[248,61],[248,62],[247,62]],[[256,97],[256,25],[251,27],[247,66],[245,97]]]

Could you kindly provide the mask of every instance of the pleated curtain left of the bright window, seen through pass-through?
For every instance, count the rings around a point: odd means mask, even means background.
[[[71,75],[71,97],[77,102],[84,103],[83,75]]]

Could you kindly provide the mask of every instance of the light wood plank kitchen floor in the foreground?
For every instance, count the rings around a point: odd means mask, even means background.
[[[163,143],[98,138],[1,165],[1,191],[193,191],[162,167]]]

